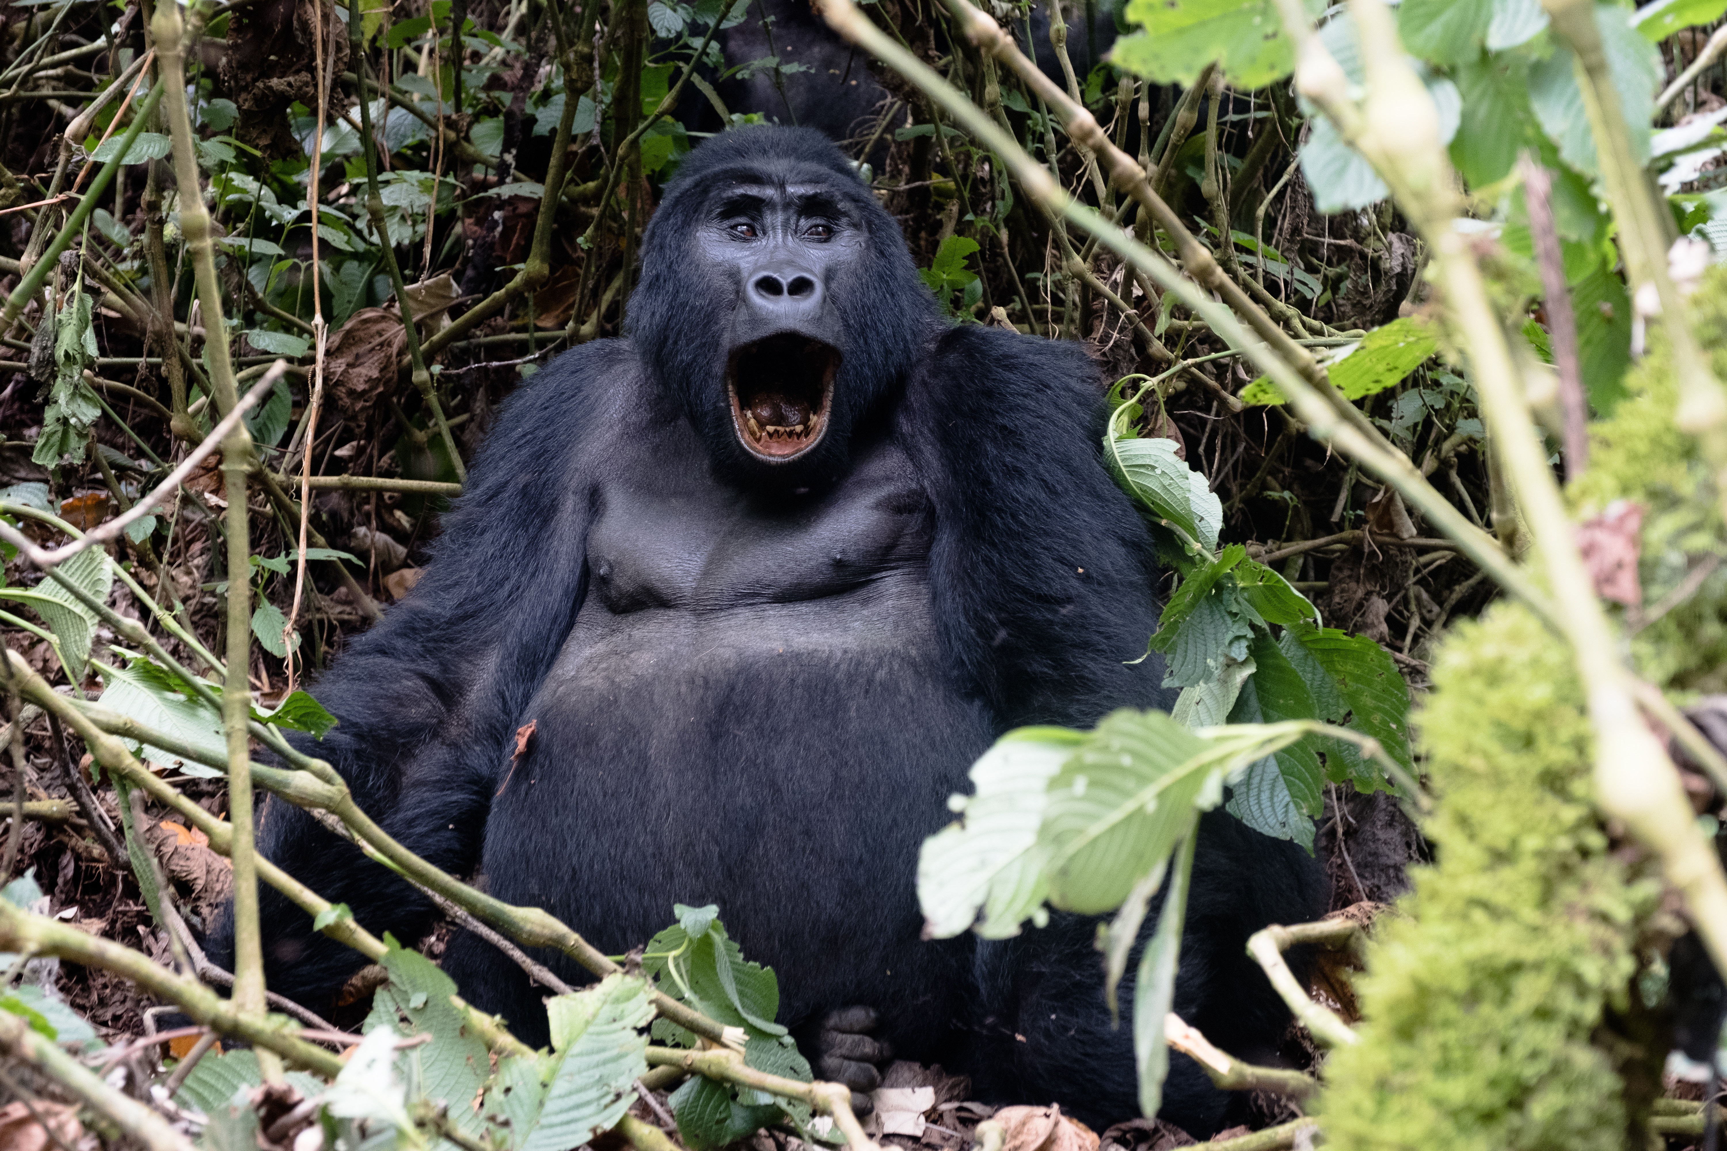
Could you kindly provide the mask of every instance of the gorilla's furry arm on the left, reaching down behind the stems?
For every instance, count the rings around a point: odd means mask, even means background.
[[[485,815],[515,751],[515,725],[575,621],[589,523],[589,397],[629,371],[615,343],[565,355],[511,397],[446,516],[425,578],[342,652],[314,689],[338,725],[300,751],[328,759],[356,802],[446,871],[478,861]],[[430,903],[307,813],[271,799],[259,849],[373,934],[411,944]],[[357,966],[304,913],[261,892],[266,977],[314,1009]],[[218,928],[221,954],[228,925]]]

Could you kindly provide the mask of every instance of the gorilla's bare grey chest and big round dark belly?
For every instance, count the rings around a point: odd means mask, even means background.
[[[718,904],[779,973],[782,1022],[864,1003],[920,1046],[952,949],[919,940],[917,849],[993,732],[945,666],[905,495],[791,523],[717,504],[674,547],[656,523],[691,509],[608,492],[587,601],[492,804],[490,889],[613,954],[674,903]]]

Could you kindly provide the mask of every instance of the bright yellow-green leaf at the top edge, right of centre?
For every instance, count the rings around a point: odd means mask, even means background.
[[[1190,85],[1218,62],[1233,86],[1250,90],[1295,67],[1275,0],[1129,0],[1126,16],[1143,31],[1117,40],[1109,59],[1159,83]]]

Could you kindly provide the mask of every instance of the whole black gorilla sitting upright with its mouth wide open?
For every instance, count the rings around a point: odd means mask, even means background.
[[[701,145],[642,252],[629,336],[504,406],[425,578],[318,685],[340,726],[307,751],[408,847],[603,951],[717,903],[824,1077],[867,1091],[891,1049],[984,1098],[1135,1115],[1093,921],[920,942],[914,892],[1005,730],[1169,702],[1161,664],[1123,663],[1157,626],[1157,571],[1098,461],[1097,369],[946,323],[808,129]],[[435,920],[295,808],[271,801],[259,844],[373,932]],[[1297,847],[1207,816],[1181,1015],[1269,1058],[1287,1015],[1243,946],[1323,911],[1319,887]],[[269,985],[328,1008],[357,958],[263,896]],[[541,992],[494,947],[458,935],[444,966],[546,1042]],[[1224,1096],[1176,1063],[1164,1113],[1216,1130]]]

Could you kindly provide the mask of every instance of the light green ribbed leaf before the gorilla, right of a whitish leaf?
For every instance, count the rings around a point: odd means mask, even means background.
[[[1048,899],[1064,911],[1114,911],[1193,827],[1205,742],[1161,711],[1116,711],[1050,780],[1038,844]]]

